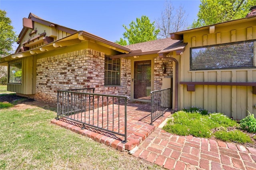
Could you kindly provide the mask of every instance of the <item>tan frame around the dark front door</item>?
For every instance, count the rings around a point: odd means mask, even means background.
[[[131,100],[132,101],[141,101],[141,102],[151,102],[150,100],[144,100],[144,99],[134,99],[134,62],[135,61],[146,61],[146,60],[151,60],[151,90],[153,91],[154,89],[154,57],[140,57],[140,58],[135,58],[131,59]]]

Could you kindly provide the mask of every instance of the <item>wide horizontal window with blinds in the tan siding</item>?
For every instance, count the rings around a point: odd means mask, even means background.
[[[190,48],[190,70],[255,67],[256,42],[236,42]]]

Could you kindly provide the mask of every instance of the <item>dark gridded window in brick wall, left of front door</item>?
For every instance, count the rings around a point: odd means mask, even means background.
[[[105,56],[104,85],[120,85],[120,59]]]

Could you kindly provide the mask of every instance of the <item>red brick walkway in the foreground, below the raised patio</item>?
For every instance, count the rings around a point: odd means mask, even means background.
[[[167,169],[256,170],[256,149],[157,128],[133,154]]]

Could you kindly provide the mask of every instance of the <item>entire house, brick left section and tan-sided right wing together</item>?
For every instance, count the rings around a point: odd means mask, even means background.
[[[256,16],[176,32],[171,38],[118,45],[30,14],[8,66],[8,91],[57,102],[58,89],[150,102],[172,88],[172,109],[201,107],[243,119],[256,111]]]

